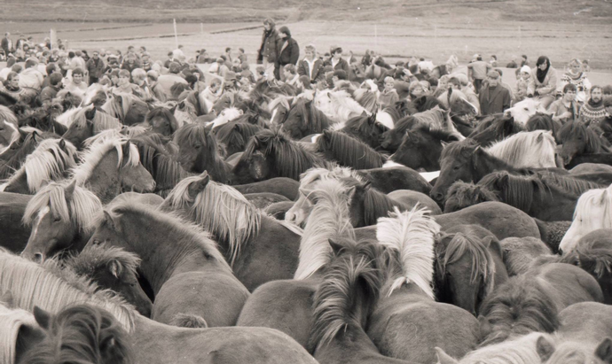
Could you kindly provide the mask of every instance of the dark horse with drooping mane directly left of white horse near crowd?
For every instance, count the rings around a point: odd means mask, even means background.
[[[326,113],[319,110],[315,102],[307,98],[295,99],[289,111],[286,112],[285,119],[278,119],[277,122],[287,136],[296,140],[321,133],[333,124]]]

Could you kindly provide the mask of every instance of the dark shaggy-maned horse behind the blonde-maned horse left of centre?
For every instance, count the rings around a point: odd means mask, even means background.
[[[207,171],[216,182],[231,182],[231,165],[221,158],[215,136],[201,124],[179,128],[173,138],[178,146],[177,161],[185,171],[201,174]]]

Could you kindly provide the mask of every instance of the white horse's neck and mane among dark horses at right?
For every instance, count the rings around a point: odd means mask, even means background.
[[[523,131],[494,143],[485,151],[517,168],[556,167],[553,132]]]

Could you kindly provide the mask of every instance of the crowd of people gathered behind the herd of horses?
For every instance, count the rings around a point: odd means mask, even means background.
[[[502,81],[503,72],[495,55],[484,61],[476,54],[467,64],[467,72],[459,71],[459,59],[454,54],[439,66],[417,57],[389,65],[371,50],[365,50],[360,60],[352,52],[345,59],[340,46],[321,54],[308,44],[302,48],[302,56],[288,27],[277,29],[273,19],[265,19],[263,27],[256,67],[249,64],[244,48],[234,53],[228,47],[217,58],[202,49],[187,58],[179,45],[167,59],[153,60],[145,47],[137,50],[130,46],[122,54],[119,50],[69,50],[65,41],[51,49],[49,38],[33,43],[32,37],[21,36],[13,43],[6,33],[0,57],[6,56],[7,67],[0,71],[4,86],[0,86],[0,92],[25,103],[47,105],[62,89],[82,95],[89,85],[98,82],[116,93],[165,102],[177,98],[172,86],[181,83],[184,87],[178,89],[197,90],[214,103],[224,92],[249,91],[255,82],[267,78],[294,89],[295,94],[303,89],[371,89],[381,108],[403,99],[439,96],[447,89],[456,89],[482,115],[503,112],[526,97],[536,97],[560,122],[583,120],[597,125],[608,113],[603,95],[612,93],[612,86],[592,85],[587,77],[588,63],[577,58],[559,77],[549,58],[541,56],[531,67],[528,57],[522,55],[519,62],[512,60],[506,65],[515,68],[516,82],[511,87]],[[209,65],[208,76],[199,64]]]

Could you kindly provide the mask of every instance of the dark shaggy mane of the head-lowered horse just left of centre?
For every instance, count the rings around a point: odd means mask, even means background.
[[[256,150],[263,148],[266,156],[273,155],[279,176],[294,180],[310,167],[324,167],[326,161],[316,153],[308,151],[302,144],[294,142],[280,129],[263,129],[257,132],[247,144],[239,163],[248,163]]]

